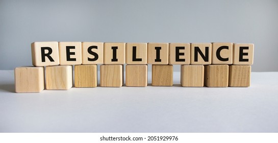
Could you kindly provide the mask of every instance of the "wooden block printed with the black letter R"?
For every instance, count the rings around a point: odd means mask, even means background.
[[[60,64],[58,42],[33,42],[31,51],[34,66]]]

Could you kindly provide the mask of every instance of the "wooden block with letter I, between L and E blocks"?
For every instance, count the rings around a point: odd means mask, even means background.
[[[148,64],[168,64],[168,43],[148,43],[147,63]]]

